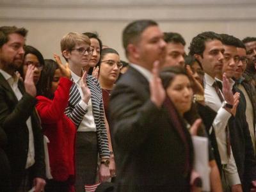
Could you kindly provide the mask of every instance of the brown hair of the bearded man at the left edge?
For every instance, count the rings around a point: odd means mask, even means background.
[[[8,35],[17,33],[21,36],[26,37],[28,30],[25,28],[17,28],[16,26],[2,26],[0,27],[0,47],[8,42]]]

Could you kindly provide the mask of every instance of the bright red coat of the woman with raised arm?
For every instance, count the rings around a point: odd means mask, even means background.
[[[68,105],[72,81],[61,77],[54,99],[38,96],[36,109],[42,120],[42,128],[48,143],[51,175],[54,180],[74,180],[74,148],[76,125],[64,114]]]

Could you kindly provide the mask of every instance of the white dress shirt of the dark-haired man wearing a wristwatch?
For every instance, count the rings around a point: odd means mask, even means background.
[[[212,86],[214,83],[214,79],[205,73],[204,81],[205,104],[217,112],[217,115],[212,123],[212,127],[216,135],[221,164],[227,164],[224,170],[225,174],[227,175],[228,184],[230,186],[235,184],[241,184],[232,149],[230,151],[230,158],[228,158],[227,154],[226,126],[231,114],[226,109],[221,107],[222,103],[220,97],[218,96],[215,88]],[[230,129],[232,129],[232,127],[230,127]]]

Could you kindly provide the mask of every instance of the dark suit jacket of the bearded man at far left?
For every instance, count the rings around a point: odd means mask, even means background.
[[[0,125],[6,132],[8,145],[4,148],[11,166],[12,191],[20,186],[26,167],[29,134],[26,120],[31,116],[35,144],[35,164],[31,167],[31,178],[45,177],[44,141],[40,120],[35,111],[36,99],[24,92],[19,82],[19,90],[23,94],[18,101],[12,88],[0,74]]]

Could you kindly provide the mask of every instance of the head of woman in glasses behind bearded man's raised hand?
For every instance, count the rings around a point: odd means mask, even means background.
[[[34,65],[36,67],[34,73],[34,82],[35,84],[37,84],[40,79],[42,69],[44,68],[44,57],[42,56],[40,51],[30,45],[26,45],[24,47],[24,51],[25,54],[23,65],[19,69],[20,76],[24,79],[28,69],[28,65]]]

